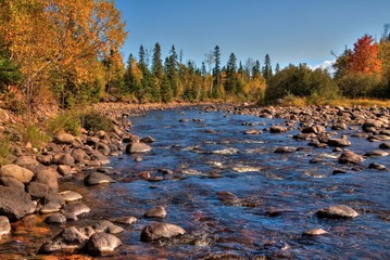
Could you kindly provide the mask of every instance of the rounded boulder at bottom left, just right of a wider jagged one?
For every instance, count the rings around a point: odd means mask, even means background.
[[[87,243],[87,250],[91,255],[113,251],[121,246],[122,242],[114,235],[106,233],[95,233]]]

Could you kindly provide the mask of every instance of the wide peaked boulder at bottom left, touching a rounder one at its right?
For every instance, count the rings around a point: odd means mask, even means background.
[[[74,226],[66,227],[52,239],[46,242],[38,253],[51,253],[63,250],[80,249],[85,246],[89,237]]]

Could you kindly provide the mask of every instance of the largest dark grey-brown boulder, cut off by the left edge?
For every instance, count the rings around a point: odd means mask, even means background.
[[[11,221],[15,221],[33,213],[35,209],[36,205],[28,193],[13,187],[0,186],[0,216],[5,216]]]

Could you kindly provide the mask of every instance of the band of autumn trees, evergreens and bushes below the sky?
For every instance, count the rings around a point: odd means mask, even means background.
[[[319,104],[390,98],[389,25],[379,40],[364,35],[352,49],[332,53],[330,74],[306,64],[273,68],[268,54],[264,61],[238,61],[231,52],[224,65],[218,46],[200,65],[183,61],[175,46],[163,57],[159,42],[151,50],[140,46],[124,62],[127,32],[112,1],[4,0],[0,14],[1,107],[16,113],[30,114],[46,103],[72,108],[101,100],[273,104],[304,98]]]

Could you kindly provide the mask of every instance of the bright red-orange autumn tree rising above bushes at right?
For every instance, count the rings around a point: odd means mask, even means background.
[[[378,57],[379,49],[372,36],[365,35],[354,43],[353,52],[348,57],[349,73],[379,74],[381,61]]]

